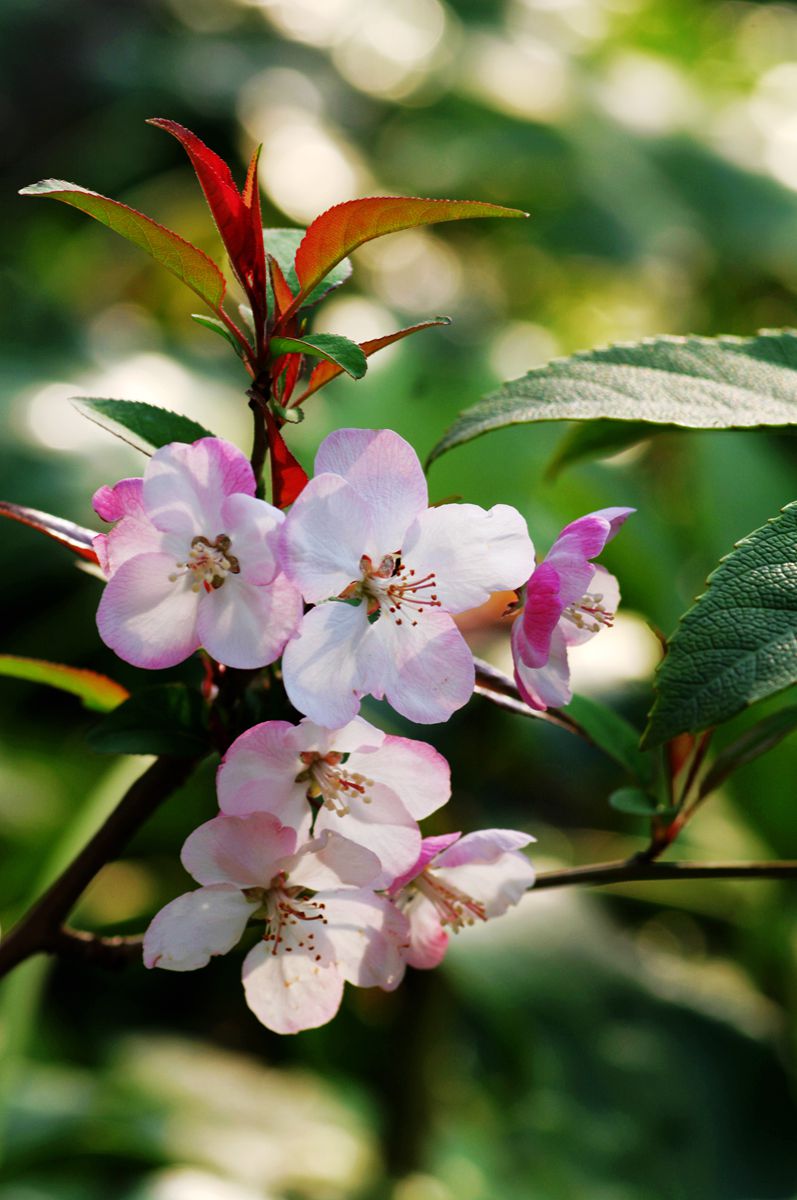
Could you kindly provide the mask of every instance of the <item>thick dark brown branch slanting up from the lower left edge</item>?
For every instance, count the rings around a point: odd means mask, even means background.
[[[61,950],[61,925],[101,866],[115,858],[198,758],[162,757],[127,790],[106,823],[0,942],[0,977],[41,950]]]

